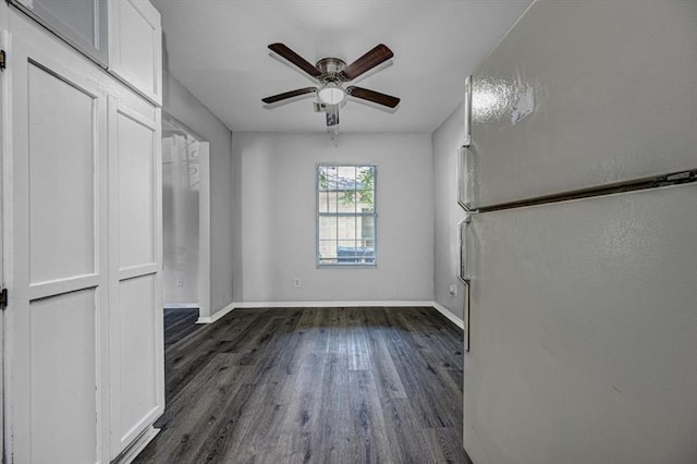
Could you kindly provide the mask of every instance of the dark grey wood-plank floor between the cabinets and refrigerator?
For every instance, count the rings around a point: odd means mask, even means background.
[[[166,346],[135,462],[466,463],[462,346],[433,308],[235,309]]]

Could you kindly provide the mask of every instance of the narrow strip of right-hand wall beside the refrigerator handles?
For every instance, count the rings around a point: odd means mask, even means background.
[[[457,205],[457,148],[464,139],[463,105],[433,132],[433,277],[436,303],[463,318],[465,285],[460,270],[457,222],[465,217]],[[449,293],[457,285],[457,296]]]

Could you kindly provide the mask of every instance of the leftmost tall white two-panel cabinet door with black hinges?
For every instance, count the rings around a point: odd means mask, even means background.
[[[19,29],[19,28],[17,28]],[[7,40],[7,411],[12,462],[101,461],[107,97],[38,29]]]

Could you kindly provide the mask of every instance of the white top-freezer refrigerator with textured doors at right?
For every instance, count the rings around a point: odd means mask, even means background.
[[[465,450],[696,463],[697,2],[535,2],[466,87]]]

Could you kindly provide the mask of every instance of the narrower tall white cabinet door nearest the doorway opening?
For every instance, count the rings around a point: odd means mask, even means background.
[[[111,457],[164,410],[160,111],[109,100]]]

